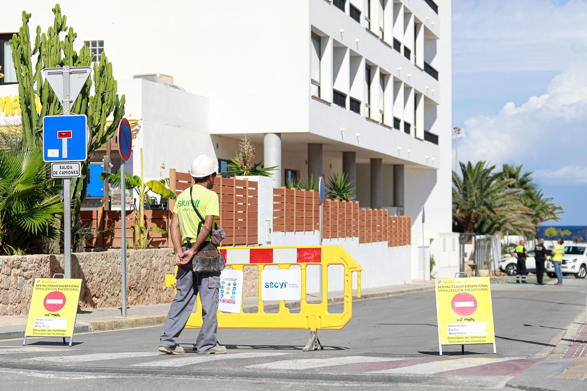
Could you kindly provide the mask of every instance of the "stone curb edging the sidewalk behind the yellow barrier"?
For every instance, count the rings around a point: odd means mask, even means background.
[[[403,291],[393,291],[393,292],[375,292],[375,293],[367,293],[361,295],[360,299],[357,299],[356,294],[353,294],[353,301],[363,301],[368,299],[375,299],[375,298],[382,298],[382,297],[392,297],[392,296],[401,296],[407,295],[412,293],[420,293],[420,292],[429,292],[434,290],[434,285],[430,287],[422,287],[422,288],[415,288],[415,289],[405,289]],[[329,299],[329,304],[339,304],[343,302],[343,296],[336,296],[332,299]],[[320,301],[316,299],[312,299],[308,301],[309,304],[319,304]],[[289,309],[297,309],[300,307],[299,301],[295,302],[286,302],[285,306]],[[257,312],[258,304],[255,305],[243,305],[242,309],[244,312]],[[264,307],[265,311],[275,311],[279,310],[279,303],[277,304],[268,304]],[[113,319],[110,321],[96,321],[96,322],[76,322],[75,328],[73,328],[74,333],[85,333],[85,332],[94,332],[94,331],[110,331],[110,330],[122,330],[122,329],[130,329],[136,327],[144,327],[144,326],[156,326],[156,325],[163,325],[167,315],[156,315],[156,316],[143,316],[141,318],[124,318],[124,319]],[[0,332],[0,340],[2,339],[14,339],[14,338],[23,338],[24,331],[11,331],[11,332]]]

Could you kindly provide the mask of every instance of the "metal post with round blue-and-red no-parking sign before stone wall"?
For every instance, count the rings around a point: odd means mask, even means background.
[[[130,133],[129,120],[123,118],[118,124],[118,149],[122,163],[120,163],[120,218],[122,220],[122,316],[126,318],[126,173],[124,162],[130,159],[133,148],[133,137]]]

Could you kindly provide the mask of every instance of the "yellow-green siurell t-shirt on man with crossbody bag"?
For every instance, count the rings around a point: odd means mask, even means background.
[[[214,221],[217,217],[220,217],[218,194],[199,184],[195,184],[192,188],[191,196],[194,200],[194,205],[198,208],[198,212],[202,217],[205,219],[206,216],[212,215],[214,216]],[[180,219],[181,241],[185,243],[189,239],[192,243],[195,243],[198,237],[198,225],[201,220],[191,205],[189,188],[178,195],[176,205],[173,207],[173,213],[177,213]],[[206,240],[211,240],[210,235]]]

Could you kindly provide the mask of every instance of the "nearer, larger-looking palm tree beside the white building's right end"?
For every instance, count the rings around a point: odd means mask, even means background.
[[[518,197],[522,190],[510,188],[513,179],[495,173],[495,166],[485,161],[459,164],[463,177],[453,171],[453,217],[465,232],[496,234],[511,229],[521,233],[531,228],[525,216],[529,210]]]

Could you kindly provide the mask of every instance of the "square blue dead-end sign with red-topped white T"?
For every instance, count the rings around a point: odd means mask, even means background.
[[[85,114],[43,117],[44,161],[86,161],[88,141]]]

